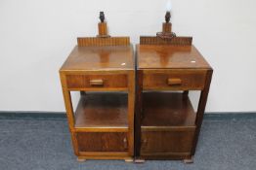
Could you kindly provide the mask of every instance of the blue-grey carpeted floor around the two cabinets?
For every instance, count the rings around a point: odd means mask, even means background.
[[[65,119],[0,119],[0,169],[255,170],[256,119],[204,120],[193,164],[76,161]]]

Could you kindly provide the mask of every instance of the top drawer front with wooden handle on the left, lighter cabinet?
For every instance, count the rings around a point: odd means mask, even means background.
[[[68,88],[125,88],[127,75],[67,75]]]

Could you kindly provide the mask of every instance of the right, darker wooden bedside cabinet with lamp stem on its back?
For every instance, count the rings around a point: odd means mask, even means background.
[[[137,162],[189,163],[195,152],[213,71],[192,46],[192,37],[176,37],[170,30],[171,24],[163,23],[163,32],[141,37],[137,45]],[[189,90],[200,91],[196,113]]]

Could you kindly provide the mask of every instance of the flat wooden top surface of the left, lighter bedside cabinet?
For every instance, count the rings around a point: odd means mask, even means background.
[[[132,46],[78,47],[69,54],[61,71],[134,70]]]

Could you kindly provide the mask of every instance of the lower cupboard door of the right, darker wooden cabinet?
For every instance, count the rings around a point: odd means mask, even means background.
[[[143,131],[141,154],[191,153],[194,128],[184,131]]]

